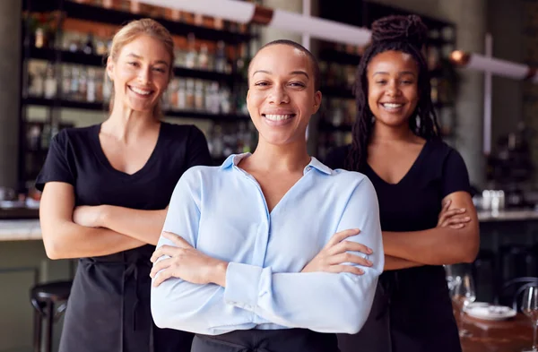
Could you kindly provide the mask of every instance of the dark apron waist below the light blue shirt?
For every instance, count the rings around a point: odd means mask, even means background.
[[[191,352],[339,352],[334,334],[306,329],[232,331],[195,335]]]

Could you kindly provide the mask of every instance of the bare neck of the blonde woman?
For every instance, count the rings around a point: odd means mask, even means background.
[[[102,124],[101,131],[119,141],[129,142],[154,128],[159,128],[160,124],[150,112],[134,111],[115,104],[107,121]]]

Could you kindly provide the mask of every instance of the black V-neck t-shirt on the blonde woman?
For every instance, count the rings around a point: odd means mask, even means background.
[[[100,124],[67,128],[50,144],[45,165],[36,180],[74,186],[75,204],[116,205],[139,210],[168,206],[179,177],[189,167],[211,165],[204,133],[194,125],[161,123],[155,149],[133,175],[110,165],[99,141]]]

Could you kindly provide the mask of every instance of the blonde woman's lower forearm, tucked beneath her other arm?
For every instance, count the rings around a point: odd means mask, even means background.
[[[63,221],[53,227],[41,223],[43,243],[50,259],[84,258],[118,253],[145,245],[108,228],[86,228]]]

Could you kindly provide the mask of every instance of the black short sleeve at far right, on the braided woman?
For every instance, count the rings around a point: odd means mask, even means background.
[[[450,150],[443,165],[442,197],[450,193],[464,191],[471,193],[469,173],[460,153]]]

